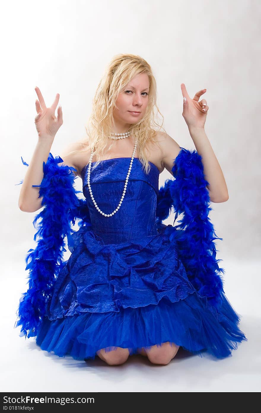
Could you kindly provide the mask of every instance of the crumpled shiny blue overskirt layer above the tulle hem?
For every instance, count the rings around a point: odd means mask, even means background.
[[[50,320],[145,307],[158,304],[164,296],[175,302],[194,291],[175,242],[164,234],[104,244],[91,227],[84,226],[73,234],[69,248],[72,254],[48,303]]]

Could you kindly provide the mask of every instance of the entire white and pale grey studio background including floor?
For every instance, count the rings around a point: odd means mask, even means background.
[[[260,2],[47,0],[5,2],[1,9],[2,391],[260,391]],[[216,246],[225,292],[248,338],[222,361],[181,352],[167,366],[142,356],[121,366],[87,365],[47,354],[13,329],[28,288],[24,258],[35,247],[35,213],[19,210],[15,185],[26,173],[21,156],[29,163],[37,142],[34,88],[47,106],[60,94],[63,125],[51,150],[59,154],[85,137],[96,87],[118,53],[152,66],[165,129],[182,147],[195,148],[181,115],[180,84],[190,97],[207,89],[205,131],[229,193],[227,202],[212,203],[210,218],[223,238]],[[169,177],[164,171],[160,184]]]

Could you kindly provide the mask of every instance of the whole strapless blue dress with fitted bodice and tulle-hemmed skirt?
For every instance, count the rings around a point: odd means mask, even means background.
[[[129,164],[130,158],[107,159],[91,170],[94,199],[106,214],[118,206]],[[104,348],[136,354],[164,342],[200,356],[230,356],[246,339],[237,326],[239,315],[225,294],[218,314],[207,308],[169,240],[172,225],[156,224],[157,166],[150,162],[146,174],[134,158],[122,205],[110,217],[92,202],[87,167],[81,175],[92,225],[82,226],[68,242],[71,256],[55,279],[36,343],[79,360],[94,359]]]

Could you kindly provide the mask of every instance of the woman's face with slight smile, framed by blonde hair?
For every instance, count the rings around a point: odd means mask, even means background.
[[[138,123],[144,116],[148,106],[150,82],[148,75],[142,73],[129,81],[127,87],[116,100],[118,109],[114,109],[113,118],[116,123]],[[139,112],[139,113],[132,113]]]

